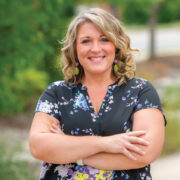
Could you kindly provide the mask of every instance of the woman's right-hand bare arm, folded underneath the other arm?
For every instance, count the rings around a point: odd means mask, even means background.
[[[152,118],[153,117],[153,118]],[[146,121],[144,121],[146,119]],[[148,122],[148,123],[147,123]],[[145,129],[147,134],[142,138],[150,142],[148,146],[140,147],[145,154],[133,153],[136,160],[129,159],[124,154],[98,153],[84,159],[84,163],[103,170],[127,170],[144,167],[153,162],[160,155],[164,143],[164,119],[156,109],[146,109],[137,112],[133,131]]]

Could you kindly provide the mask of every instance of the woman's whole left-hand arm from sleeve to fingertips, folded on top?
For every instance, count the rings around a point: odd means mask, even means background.
[[[133,159],[131,151],[138,154],[143,153],[137,144],[148,145],[148,142],[141,138],[146,134],[145,131],[107,137],[71,136],[64,134],[59,127],[54,129],[54,122],[57,122],[55,118],[37,113],[32,123],[29,139],[32,155],[49,163],[76,162],[78,159],[85,159],[100,152],[122,153]]]

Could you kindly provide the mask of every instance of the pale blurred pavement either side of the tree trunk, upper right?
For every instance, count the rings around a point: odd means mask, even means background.
[[[149,29],[127,30],[131,46],[138,48],[141,53],[135,53],[135,61],[144,61],[149,57]],[[168,43],[167,43],[168,42]],[[156,55],[180,55],[180,27],[159,28],[155,31]]]

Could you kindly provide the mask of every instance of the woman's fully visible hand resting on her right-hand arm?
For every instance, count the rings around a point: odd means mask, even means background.
[[[103,137],[104,151],[108,153],[122,153],[130,159],[136,160],[132,152],[144,155],[137,145],[147,146],[149,142],[141,138],[145,135],[145,131],[133,131],[113,136]]]

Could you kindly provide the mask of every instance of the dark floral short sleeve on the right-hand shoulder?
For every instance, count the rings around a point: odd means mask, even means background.
[[[159,109],[164,116],[164,120],[166,124],[166,118],[165,118],[165,115],[161,106],[159,95],[156,89],[153,87],[153,85],[149,81],[146,81],[142,89],[139,91],[138,100],[137,100],[137,104],[135,106],[134,111],[136,112],[136,111],[139,111],[141,109],[146,109],[146,108]]]

